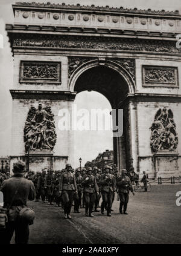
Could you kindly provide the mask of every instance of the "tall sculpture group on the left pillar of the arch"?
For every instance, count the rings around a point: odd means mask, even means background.
[[[31,107],[24,128],[25,151],[48,150],[52,151],[56,144],[56,130],[54,114],[51,107],[42,108],[39,103],[38,110]]]

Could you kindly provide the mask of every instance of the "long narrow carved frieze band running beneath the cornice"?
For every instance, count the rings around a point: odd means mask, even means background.
[[[29,35],[30,36],[30,35]],[[104,38],[88,38],[76,36],[55,37],[39,34],[39,38],[15,38],[13,39],[13,48],[18,47],[49,47],[49,48],[77,48],[77,49],[97,49],[97,50],[116,50],[116,51],[138,51],[153,53],[174,53],[180,54],[181,48],[176,48],[175,42],[157,40],[129,40],[129,39],[104,39]]]

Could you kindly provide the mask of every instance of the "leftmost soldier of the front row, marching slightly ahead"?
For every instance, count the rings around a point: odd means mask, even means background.
[[[74,200],[74,193],[77,193],[75,176],[71,172],[72,166],[67,163],[66,171],[60,176],[59,195],[62,195],[64,206],[64,217],[71,218],[71,206]]]

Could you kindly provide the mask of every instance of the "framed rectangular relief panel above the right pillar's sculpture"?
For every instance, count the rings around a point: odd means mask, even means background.
[[[143,85],[178,87],[177,68],[143,66]]]

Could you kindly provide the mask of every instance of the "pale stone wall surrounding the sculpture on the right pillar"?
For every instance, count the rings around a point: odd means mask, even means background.
[[[177,134],[181,134],[181,103],[168,102],[139,102],[138,103],[138,156],[139,156],[139,171],[148,171],[153,174],[156,171],[155,160],[150,147],[151,130],[150,127],[154,122],[154,116],[159,108],[167,107],[174,114],[174,122],[176,123]],[[179,136],[180,137],[180,136]],[[176,161],[176,156],[171,156],[175,151],[170,151],[169,156],[159,156],[158,158],[158,173],[157,176],[179,176],[181,174],[180,158]],[[181,154],[181,143],[177,146],[177,153]],[[169,173],[168,173],[169,172]]]

